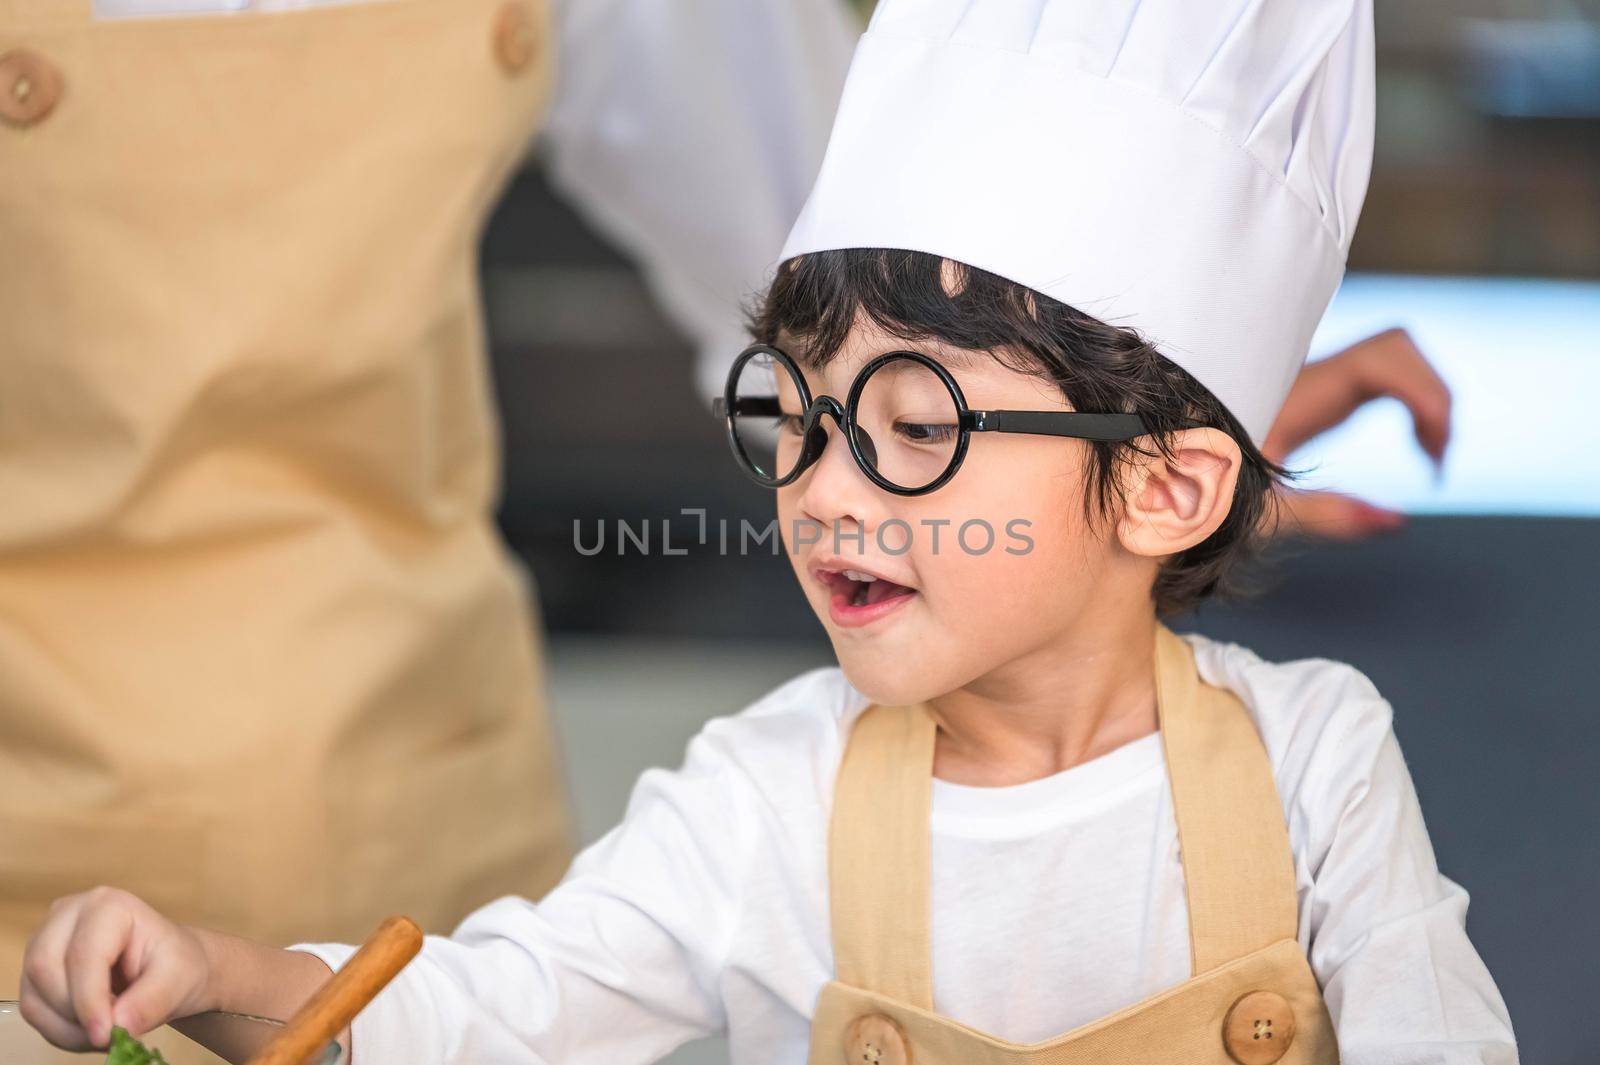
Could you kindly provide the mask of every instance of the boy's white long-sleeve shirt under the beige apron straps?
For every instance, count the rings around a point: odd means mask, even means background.
[[[1357,668],[1189,633],[1272,760],[1299,940],[1347,1065],[1517,1060],[1442,876],[1390,707]],[[726,1031],[734,1065],[803,1065],[834,975],[827,825],[867,699],[837,668],[715,718],[542,900],[501,899],[355,1020],[355,1065],[629,1065]],[[638,713],[650,713],[642,705]],[[933,782],[934,1009],[1034,1043],[1189,977],[1160,737],[1014,787]],[[312,950],[333,966],[349,947]]]

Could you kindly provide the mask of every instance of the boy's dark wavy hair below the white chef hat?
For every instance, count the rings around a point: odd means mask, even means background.
[[[1278,481],[1294,473],[1272,462],[1211,392],[1133,329],[1107,325],[1003,277],[922,251],[851,248],[786,262],[749,315],[750,334],[802,344],[792,355],[821,366],[838,353],[858,317],[904,341],[942,341],[990,352],[1019,373],[1048,376],[1074,409],[1138,414],[1155,448],[1171,457],[1170,433],[1210,425],[1238,443],[1243,464],[1227,518],[1200,544],[1170,558],[1152,588],[1158,616],[1208,598],[1238,598],[1243,564],[1278,520]],[[1138,441],[1085,441],[1093,453],[1083,513],[1109,518],[1120,502],[1118,472]]]

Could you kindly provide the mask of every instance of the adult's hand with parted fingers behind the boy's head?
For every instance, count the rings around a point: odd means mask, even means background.
[[[1296,377],[1261,451],[1274,462],[1346,421],[1358,408],[1394,397],[1411,413],[1422,451],[1440,469],[1450,445],[1450,387],[1405,329],[1384,329],[1336,355],[1309,363]],[[1278,489],[1277,534],[1360,540],[1405,525],[1405,515],[1334,491]]]

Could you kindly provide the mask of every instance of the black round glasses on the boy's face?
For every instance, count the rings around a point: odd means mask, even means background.
[[[822,457],[827,414],[861,472],[896,496],[947,485],[971,433],[1117,441],[1149,432],[1138,414],[974,411],[950,371],[920,352],[878,355],[856,374],[843,403],[811,398],[800,368],[770,344],[747,347],[734,360],[712,413],[726,424],[733,456],[757,485],[782,488]]]

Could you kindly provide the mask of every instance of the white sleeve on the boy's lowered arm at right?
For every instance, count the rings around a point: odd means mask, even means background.
[[[1506,1003],[1467,939],[1467,892],[1438,872],[1389,704],[1373,696],[1341,721],[1299,809],[1312,844],[1301,926],[1341,1060],[1515,1065]]]

